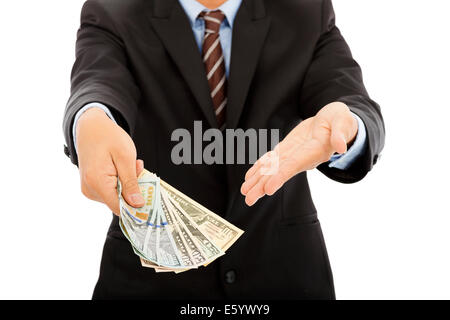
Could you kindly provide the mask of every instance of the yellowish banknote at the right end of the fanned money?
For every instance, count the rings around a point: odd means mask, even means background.
[[[161,187],[173,200],[171,203],[178,205],[197,224],[199,230],[222,251],[228,250],[244,233],[241,229],[206,209],[163,180],[161,180]]]

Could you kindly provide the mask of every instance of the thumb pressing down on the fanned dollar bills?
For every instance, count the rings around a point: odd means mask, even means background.
[[[135,208],[144,206],[144,197],[139,190],[137,182],[136,159],[123,155],[116,156],[114,158],[114,163],[119,174],[120,183],[122,184],[122,196],[125,201]]]

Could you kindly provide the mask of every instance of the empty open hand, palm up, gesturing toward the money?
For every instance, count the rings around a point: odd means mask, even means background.
[[[261,157],[246,173],[241,193],[247,205],[265,195],[273,195],[300,172],[330,160],[334,153],[347,152],[347,145],[358,133],[358,122],[341,102],[323,107],[316,116],[302,121],[274,151]],[[269,159],[277,158],[277,169],[266,172]]]

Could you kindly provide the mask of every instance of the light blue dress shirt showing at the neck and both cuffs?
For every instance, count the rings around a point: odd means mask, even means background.
[[[184,11],[186,12],[186,15],[189,19],[189,22],[191,24],[192,31],[194,33],[195,40],[197,42],[198,48],[201,51],[202,50],[202,42],[203,37],[205,34],[205,22],[203,19],[200,19],[198,15],[202,11],[210,11],[210,9],[203,6],[200,2],[196,0],[178,0],[181,6],[183,7]],[[225,69],[226,74],[228,77],[229,70],[230,70],[230,59],[231,59],[231,43],[232,43],[232,30],[233,30],[233,24],[234,19],[236,17],[236,14],[239,10],[239,7],[241,6],[242,0],[227,0],[225,3],[223,3],[220,7],[214,10],[221,10],[225,14],[225,20],[220,26],[220,44],[222,45],[222,51],[224,55],[225,60]],[[80,109],[74,120],[73,125],[73,137],[75,146],[76,144],[76,134],[75,134],[75,128],[78,119],[80,116],[85,112],[86,110],[90,108],[100,108],[106,112],[108,117],[110,117],[114,121],[114,117],[112,116],[110,110],[108,107],[103,105],[100,102],[94,102],[87,104],[82,109]],[[329,166],[332,168],[337,168],[340,170],[345,170],[348,167],[351,166],[351,164],[364,152],[365,146],[366,146],[366,128],[364,126],[364,123],[362,120],[356,115],[353,114],[356,120],[358,121],[358,135],[356,137],[355,142],[353,143],[352,147],[349,148],[349,150],[343,154],[343,155],[334,155],[330,159]],[[75,147],[76,148],[76,147]]]

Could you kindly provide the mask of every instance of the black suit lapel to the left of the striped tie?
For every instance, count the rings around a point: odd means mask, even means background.
[[[217,127],[205,67],[183,8],[177,0],[154,0],[150,20],[189,85],[210,126]]]

